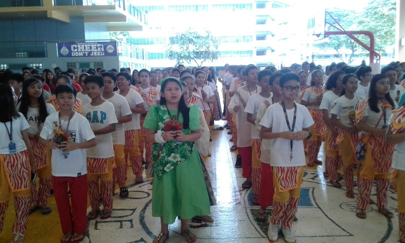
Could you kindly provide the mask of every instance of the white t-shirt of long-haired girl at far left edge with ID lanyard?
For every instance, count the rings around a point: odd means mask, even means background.
[[[16,152],[19,153],[27,150],[27,146],[25,145],[21,131],[28,129],[30,125],[21,112],[18,112],[18,114],[20,117],[17,117],[17,119],[13,118],[13,131],[10,131],[10,122],[0,122],[0,154],[10,154],[10,151],[8,150],[10,139],[8,137],[7,129],[11,133],[12,141],[15,142]],[[7,126],[7,129],[5,128],[4,124]]]

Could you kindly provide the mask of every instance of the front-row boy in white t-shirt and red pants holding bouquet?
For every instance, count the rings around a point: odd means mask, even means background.
[[[74,111],[76,91],[68,84],[56,87],[58,112],[46,117],[39,142],[52,149],[52,182],[62,233],[61,242],[84,238],[87,229],[86,148],[97,144],[87,120]],[[53,134],[55,124],[70,137],[60,144]],[[70,204],[68,188],[72,204]]]

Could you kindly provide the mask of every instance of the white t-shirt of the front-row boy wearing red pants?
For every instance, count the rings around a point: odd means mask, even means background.
[[[46,117],[43,129],[39,135],[42,139],[53,138],[53,122],[59,124],[59,112],[54,112]],[[66,131],[69,121],[61,120],[62,130]],[[69,136],[72,142],[84,142],[94,139],[94,133],[89,122],[81,114],[74,112],[69,123]],[[62,154],[61,149],[52,149],[51,159],[52,175],[77,177],[87,174],[86,149],[79,148],[69,152],[68,158]]]

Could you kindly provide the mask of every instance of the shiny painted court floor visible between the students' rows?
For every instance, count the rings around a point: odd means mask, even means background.
[[[216,126],[223,122],[217,122]],[[242,169],[234,168],[236,152],[227,130],[214,131],[211,142],[212,157],[205,158],[218,204],[211,208],[214,223],[190,222],[191,231],[201,243],[267,243],[267,222],[255,220],[258,206],[252,205],[251,190],[242,190]],[[320,153],[320,159],[323,152]],[[324,158],[322,158],[324,160]],[[130,168],[128,168],[130,172]],[[397,196],[389,190],[389,209],[395,217],[386,219],[375,205],[367,210],[367,219],[359,219],[354,211],[356,200],[345,197],[345,190],[332,187],[323,176],[323,166],[305,170],[302,184],[298,221],[293,224],[297,243],[395,243],[398,241]],[[127,182],[134,181],[128,176]],[[151,243],[159,233],[159,218],[151,216],[150,179],[141,184],[129,184],[129,198],[114,196],[112,217],[88,223],[84,243]],[[341,181],[344,185],[344,181]],[[117,192],[117,191],[116,191]],[[372,199],[376,201],[375,189]],[[26,234],[28,243],[59,242],[61,230],[54,199],[50,199],[50,215],[38,211],[30,216]],[[11,206],[11,205],[10,205]],[[13,206],[8,209],[6,225],[0,242],[11,240]],[[271,208],[268,209],[270,213]],[[180,235],[180,221],[169,226],[167,243],[185,242]],[[40,236],[40,237],[38,237]],[[284,242],[282,237],[278,242]]]

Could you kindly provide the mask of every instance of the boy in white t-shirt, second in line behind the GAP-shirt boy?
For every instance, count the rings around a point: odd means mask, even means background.
[[[140,181],[141,179],[143,180],[142,159],[137,160],[137,156],[141,156],[141,151],[139,150],[139,131],[141,129],[140,114],[145,113],[145,105],[142,96],[135,90],[129,88],[130,84],[131,75],[126,72],[120,72],[117,74],[118,90],[115,92],[125,98],[132,112],[132,120],[130,122],[124,123],[125,162],[127,162],[129,158],[132,173],[136,176],[135,180]],[[127,170],[125,170],[125,176],[126,173]]]

